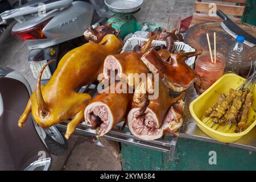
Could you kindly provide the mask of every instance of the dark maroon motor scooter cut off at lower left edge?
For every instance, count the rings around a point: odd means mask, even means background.
[[[49,170],[50,154],[67,152],[67,140],[55,126],[43,130],[29,115],[18,127],[31,93],[26,78],[0,66],[0,170]]]

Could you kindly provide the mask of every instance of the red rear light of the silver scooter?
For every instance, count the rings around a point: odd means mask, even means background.
[[[43,34],[43,28],[51,20],[47,19],[44,22],[37,24],[35,27],[28,28],[22,31],[11,32],[13,36],[20,40],[35,40],[35,39],[46,39],[47,37]]]

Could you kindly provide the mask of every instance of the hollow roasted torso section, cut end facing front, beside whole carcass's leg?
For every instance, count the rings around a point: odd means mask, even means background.
[[[121,88],[122,82],[110,85],[98,94],[84,110],[85,123],[92,125],[93,130],[98,130],[98,137],[108,133],[122,121],[127,110],[131,107],[131,94],[110,93],[110,88]],[[127,87],[127,84],[125,83]]]

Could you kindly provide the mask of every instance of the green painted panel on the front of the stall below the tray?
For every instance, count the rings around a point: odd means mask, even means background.
[[[216,165],[209,164],[216,151]],[[122,143],[123,170],[256,170],[256,152],[179,138],[173,162],[168,154]]]

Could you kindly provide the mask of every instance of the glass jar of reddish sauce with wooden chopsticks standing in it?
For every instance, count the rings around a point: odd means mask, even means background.
[[[214,51],[212,51],[212,55],[214,59]],[[223,75],[225,66],[224,56],[218,51],[215,64],[210,60],[209,51],[204,51],[197,56],[195,71],[199,78],[195,82],[196,92],[201,94],[216,82]]]

